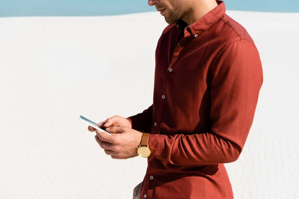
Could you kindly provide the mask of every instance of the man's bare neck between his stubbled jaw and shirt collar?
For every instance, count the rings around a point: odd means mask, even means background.
[[[190,14],[184,16],[182,19],[188,25],[191,25],[217,6],[218,3],[216,0],[195,0],[193,10],[190,12]]]

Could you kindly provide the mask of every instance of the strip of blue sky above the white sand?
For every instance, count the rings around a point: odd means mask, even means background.
[[[298,0],[224,0],[229,10],[299,12]],[[155,11],[147,0],[0,0],[0,16],[98,16]]]

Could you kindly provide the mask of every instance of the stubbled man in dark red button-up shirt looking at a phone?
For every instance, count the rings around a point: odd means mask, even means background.
[[[136,198],[233,199],[223,164],[239,158],[252,126],[263,83],[259,52],[223,1],[149,5],[169,23],[156,48],[153,103],[101,122],[113,135],[95,138],[112,158],[148,158]]]

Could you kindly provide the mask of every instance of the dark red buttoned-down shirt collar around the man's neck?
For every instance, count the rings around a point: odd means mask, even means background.
[[[218,6],[209,11],[206,15],[192,23],[187,25],[182,19],[176,22],[176,26],[179,28],[181,35],[190,33],[192,37],[197,37],[209,29],[223,14],[225,14],[226,8],[224,1],[216,0]]]

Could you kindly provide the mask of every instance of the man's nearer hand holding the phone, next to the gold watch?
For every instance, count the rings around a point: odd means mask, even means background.
[[[138,156],[142,132],[129,127],[113,126],[106,129],[112,135],[96,130],[96,141],[113,159],[128,159]]]

